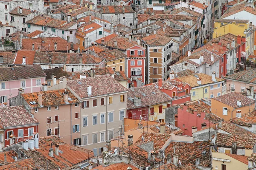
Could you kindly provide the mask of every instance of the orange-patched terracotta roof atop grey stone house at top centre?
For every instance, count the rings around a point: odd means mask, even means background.
[[[102,14],[122,14],[123,8],[125,13],[134,13],[131,6],[102,6]]]

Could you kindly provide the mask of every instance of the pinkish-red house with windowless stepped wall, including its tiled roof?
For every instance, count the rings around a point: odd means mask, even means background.
[[[180,105],[177,114],[177,127],[184,133],[183,135],[192,136],[192,133],[202,128],[218,123],[220,117],[210,113],[210,106],[202,100],[189,102],[186,105]]]

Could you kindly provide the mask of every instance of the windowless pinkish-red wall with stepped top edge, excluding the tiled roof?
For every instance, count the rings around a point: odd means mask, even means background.
[[[204,119],[204,112],[198,113],[197,111],[194,111],[193,113],[194,114],[187,112],[187,106],[183,106],[183,109],[178,108],[177,127],[183,130],[183,135],[192,136],[193,126],[197,127],[197,130],[202,129],[202,124],[209,126],[209,121]],[[212,122],[210,122],[210,125],[212,125]]]

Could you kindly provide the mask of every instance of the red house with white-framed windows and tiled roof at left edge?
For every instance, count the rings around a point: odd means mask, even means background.
[[[5,147],[33,136],[38,131],[38,124],[34,115],[23,106],[0,108],[0,125],[5,129],[4,136],[0,134],[0,139],[3,139]]]

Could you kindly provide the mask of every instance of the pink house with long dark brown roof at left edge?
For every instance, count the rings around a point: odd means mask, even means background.
[[[24,93],[38,92],[46,74],[40,65],[0,68],[0,107],[9,106],[9,98]]]

